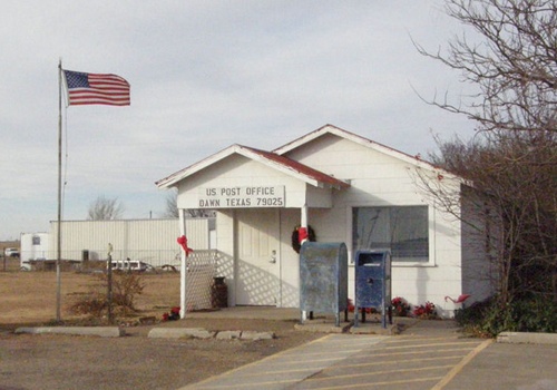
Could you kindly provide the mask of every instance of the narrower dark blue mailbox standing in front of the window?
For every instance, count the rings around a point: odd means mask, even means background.
[[[358,326],[358,313],[362,310],[365,322],[365,309],[381,311],[381,324],[387,328],[387,315],[392,324],[391,308],[391,252],[389,250],[365,250],[355,253],[355,299],[354,326]]]

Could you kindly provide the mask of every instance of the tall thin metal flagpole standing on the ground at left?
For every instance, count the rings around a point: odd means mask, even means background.
[[[56,244],[56,322],[61,322],[60,261],[62,218],[62,60],[58,62],[58,234]]]

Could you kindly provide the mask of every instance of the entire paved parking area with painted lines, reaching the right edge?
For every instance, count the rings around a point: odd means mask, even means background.
[[[326,334],[185,389],[557,389],[555,344],[463,337],[453,321],[400,335]]]

